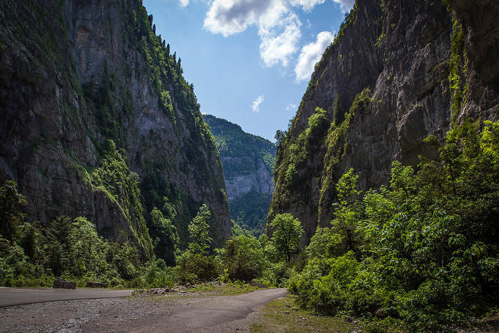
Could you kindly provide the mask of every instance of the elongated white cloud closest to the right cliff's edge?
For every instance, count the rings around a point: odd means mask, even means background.
[[[322,31],[317,34],[317,40],[306,44],[301,48],[298,63],[295,67],[296,80],[308,80],[313,72],[315,64],[320,60],[322,53],[331,42],[334,35],[329,31]]]

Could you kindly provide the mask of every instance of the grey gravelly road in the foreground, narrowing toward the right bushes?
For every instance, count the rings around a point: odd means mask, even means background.
[[[249,332],[256,309],[286,295],[168,296],[46,302],[0,309],[0,332]]]

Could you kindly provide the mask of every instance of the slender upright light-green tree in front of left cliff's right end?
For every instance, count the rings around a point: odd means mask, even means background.
[[[206,253],[211,245],[208,224],[210,216],[208,206],[203,204],[193,221],[189,223],[189,250],[195,255]]]

